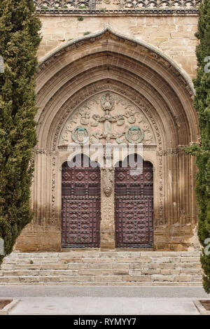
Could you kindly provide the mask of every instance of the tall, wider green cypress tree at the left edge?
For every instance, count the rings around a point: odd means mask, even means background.
[[[4,253],[32,217],[30,186],[36,145],[36,52],[41,22],[33,0],[1,0],[0,237]],[[2,71],[2,69],[1,69]],[[3,255],[0,255],[0,264]]]

